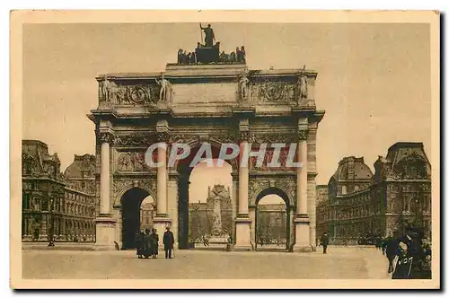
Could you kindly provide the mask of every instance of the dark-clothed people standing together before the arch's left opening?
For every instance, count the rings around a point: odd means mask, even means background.
[[[167,226],[163,233],[163,250],[165,250],[165,259],[172,259],[172,250],[174,245],[174,236],[170,227]],[[159,235],[156,229],[145,229],[137,233],[136,236],[136,255],[138,259],[156,259],[159,254]]]

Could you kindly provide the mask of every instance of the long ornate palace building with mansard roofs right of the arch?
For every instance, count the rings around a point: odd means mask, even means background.
[[[392,145],[374,162],[374,173],[363,157],[343,158],[328,185],[317,186],[317,235],[363,244],[413,226],[429,238],[430,174],[422,143]]]

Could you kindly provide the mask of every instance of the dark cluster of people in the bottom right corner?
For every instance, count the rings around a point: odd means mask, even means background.
[[[391,232],[380,245],[376,244],[388,259],[388,273],[392,273],[392,279],[431,278],[432,252],[423,238],[422,231],[409,228],[403,236]]]

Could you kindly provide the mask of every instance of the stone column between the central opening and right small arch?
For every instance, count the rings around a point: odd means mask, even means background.
[[[239,204],[238,215],[235,219],[235,249],[236,250],[251,250],[251,218],[248,214],[248,181],[249,164],[248,161],[243,161],[244,151],[250,151],[251,146],[248,144],[249,136],[249,121],[242,121],[241,128],[241,143],[240,143],[240,158],[239,158]],[[248,154],[246,154],[248,157]]]

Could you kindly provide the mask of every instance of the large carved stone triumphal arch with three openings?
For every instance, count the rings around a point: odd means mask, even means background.
[[[155,201],[154,226],[160,236],[170,225],[175,246],[188,247],[189,161],[203,143],[211,145],[214,158],[223,144],[251,151],[268,145],[262,164],[250,157],[249,166],[242,167],[242,154],[228,161],[233,168],[235,249],[253,247],[255,210],[269,194],[286,202],[288,250],[314,249],[315,140],[324,115],[315,107],[317,73],[305,67],[251,70],[244,52],[218,57],[219,45],[214,47],[208,55],[208,48],[198,44],[201,56],[195,57],[180,57],[180,50],[178,63],[168,64],[163,73],[96,77],[99,105],[89,118],[96,133],[97,250],[133,247],[140,204],[148,195]],[[164,163],[150,167],[145,153],[156,143],[167,145],[152,155]],[[168,167],[174,144],[192,150]],[[282,157],[279,166],[267,166],[272,144],[295,144],[295,160],[302,166],[287,167]]]

